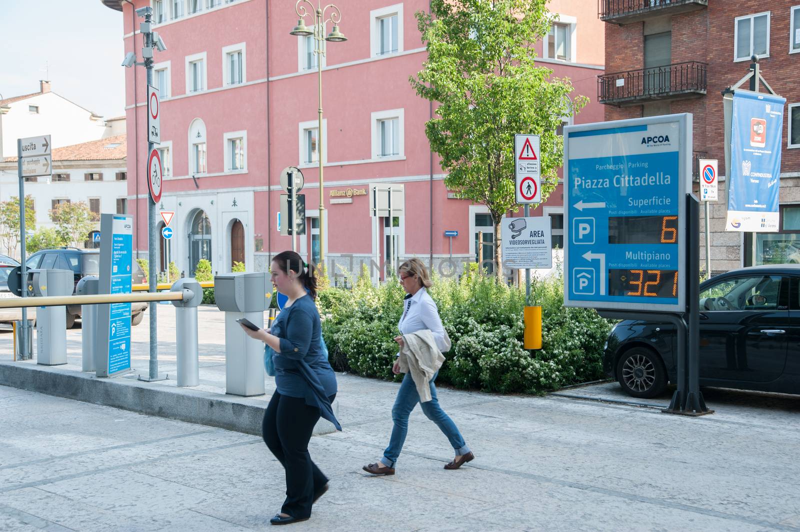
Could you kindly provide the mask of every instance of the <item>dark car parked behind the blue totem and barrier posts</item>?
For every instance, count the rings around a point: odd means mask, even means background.
[[[75,288],[78,281],[85,276],[97,276],[100,272],[100,251],[98,249],[78,249],[78,248],[56,248],[42,249],[32,254],[25,261],[26,268],[55,268],[59,270],[72,270],[75,273]],[[133,284],[143,284],[147,278],[139,267],[138,262],[133,262]],[[73,292],[74,293],[74,292]],[[130,304],[130,323],[138,325],[142,323],[144,312],[147,309],[146,303]],[[66,307],[66,328],[72,328],[75,319],[81,317],[81,305],[67,305]]]

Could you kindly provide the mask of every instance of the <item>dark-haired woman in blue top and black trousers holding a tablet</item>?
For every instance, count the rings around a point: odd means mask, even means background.
[[[264,413],[266,446],[286,470],[286,501],[273,525],[305,521],[312,504],[328,489],[328,478],[311,461],[308,443],[321,415],[333,417],[336,375],[322,347],[319,313],[314,304],[317,280],[295,252],[282,252],[270,266],[272,284],[289,297],[269,331],[245,332],[274,350],[275,387]]]

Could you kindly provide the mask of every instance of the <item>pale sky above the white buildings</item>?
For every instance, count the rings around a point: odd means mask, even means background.
[[[0,94],[54,93],[102,117],[125,114],[122,13],[100,0],[0,0]],[[49,69],[49,73],[48,73]]]

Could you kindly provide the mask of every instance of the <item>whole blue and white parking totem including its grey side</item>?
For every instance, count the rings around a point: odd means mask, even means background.
[[[100,220],[102,294],[130,294],[133,266],[133,218],[103,214]],[[98,305],[98,377],[130,371],[130,303]]]

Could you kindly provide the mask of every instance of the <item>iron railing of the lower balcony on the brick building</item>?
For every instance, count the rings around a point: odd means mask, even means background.
[[[686,62],[598,76],[598,101],[634,105],[644,101],[702,96],[706,63]]]

